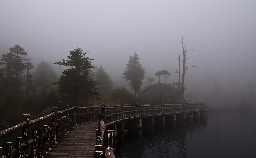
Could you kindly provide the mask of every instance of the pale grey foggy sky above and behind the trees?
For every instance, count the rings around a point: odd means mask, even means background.
[[[185,99],[253,102],[256,77],[256,1],[0,1],[0,54],[19,44],[37,65],[82,48],[116,86],[129,56],[138,53],[147,76],[176,72],[182,37],[187,50]],[[182,63],[181,63],[182,64]],[[57,71],[64,67],[52,65]],[[215,89],[215,73],[218,97]],[[164,82],[164,77],[161,77]],[[178,82],[174,73],[166,83]],[[142,85],[144,88],[144,84]],[[130,88],[127,88],[130,89]]]

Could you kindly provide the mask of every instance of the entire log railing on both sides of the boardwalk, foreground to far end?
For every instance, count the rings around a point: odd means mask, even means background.
[[[83,111],[77,111],[83,109]],[[73,110],[73,112],[71,112]],[[118,106],[91,106],[77,107],[57,111],[53,107],[52,113],[44,117],[29,120],[29,114],[24,114],[24,122],[0,132],[0,138],[7,136],[19,129],[22,129],[22,137],[16,138],[15,148],[12,142],[5,143],[5,153],[0,147],[0,158],[15,157],[38,157],[47,155],[65,136],[77,125],[99,120],[96,127],[95,157],[112,157],[115,155],[114,132],[117,130],[108,130],[106,127],[115,125],[119,121],[130,118],[146,118],[154,116],[185,114],[189,112],[205,112],[206,103],[192,104],[146,104],[146,105],[118,105]],[[66,116],[57,119],[57,115]],[[206,114],[206,113],[205,113]],[[47,119],[52,118],[50,123]],[[176,118],[175,118],[176,119]],[[29,139],[29,126],[45,121],[47,125],[38,130],[32,130],[32,137]],[[142,121],[142,120],[141,120]],[[31,153],[29,154],[29,145]],[[2,156],[3,155],[3,156]]]

